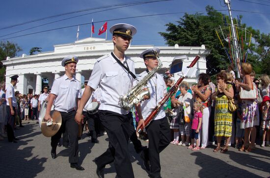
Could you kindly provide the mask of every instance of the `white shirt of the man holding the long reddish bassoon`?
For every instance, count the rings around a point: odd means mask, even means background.
[[[146,75],[147,72],[143,71],[138,75],[138,80],[142,80],[143,77],[145,77]],[[150,91],[150,99],[141,102],[141,114],[144,120],[150,115],[151,111],[153,111],[151,109],[154,109],[162,100],[162,98],[164,97],[164,93],[167,92],[166,84],[160,74],[155,74],[155,76],[150,79],[146,87]],[[162,107],[162,109],[157,113],[156,117],[153,120],[162,119],[163,117],[165,117],[165,111]]]

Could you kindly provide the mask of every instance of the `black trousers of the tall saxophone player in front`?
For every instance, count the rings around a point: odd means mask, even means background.
[[[98,112],[109,138],[107,151],[97,157],[98,167],[105,167],[114,161],[117,178],[134,178],[128,149],[131,112],[127,115],[103,110]]]

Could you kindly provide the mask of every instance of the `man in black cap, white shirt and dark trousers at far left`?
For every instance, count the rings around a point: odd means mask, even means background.
[[[17,107],[17,101],[15,98],[15,91],[14,87],[19,82],[18,75],[11,76],[11,82],[7,89],[6,89],[6,112],[7,112],[7,138],[8,141],[11,143],[17,143],[16,138],[14,136],[14,124],[15,124],[15,116],[17,114],[16,107]]]

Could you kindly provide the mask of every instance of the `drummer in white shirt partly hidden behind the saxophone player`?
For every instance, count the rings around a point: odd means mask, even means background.
[[[89,80],[84,81],[84,88],[81,89],[81,94],[83,94],[85,87],[87,86]],[[99,140],[97,139],[97,130],[98,130],[98,113],[93,113],[93,114],[87,114],[87,106],[90,106],[92,102],[95,103],[100,103],[100,97],[99,96],[99,90],[96,89],[93,93],[90,99],[87,101],[85,107],[82,110],[82,114],[84,116],[83,118],[83,124],[82,124],[82,129],[84,124],[87,122],[87,126],[89,129],[89,135],[91,136],[91,142],[92,143],[99,143]],[[99,104],[98,104],[99,105]],[[96,108],[91,108],[92,110],[98,110],[98,105],[92,105],[96,106]]]

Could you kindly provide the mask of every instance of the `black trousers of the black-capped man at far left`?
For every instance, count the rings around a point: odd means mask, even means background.
[[[15,138],[14,135],[14,124],[15,124],[15,116],[16,116],[16,108],[13,107],[14,115],[11,115],[10,107],[6,105],[6,114],[7,114],[7,124],[6,124],[6,132],[7,139],[9,142],[12,142]]]

